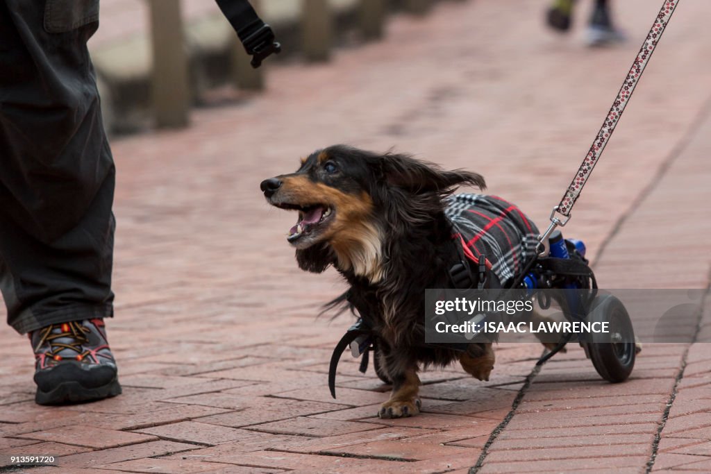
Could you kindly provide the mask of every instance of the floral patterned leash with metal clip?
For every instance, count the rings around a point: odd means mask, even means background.
[[[639,78],[641,77],[644,68],[646,68],[649,58],[651,58],[654,48],[661,39],[662,33],[668,25],[678,3],[679,0],[664,0],[662,8],[655,18],[654,24],[649,30],[649,34],[647,35],[642,48],[639,50],[639,53],[632,64],[632,68],[629,70],[629,73],[622,84],[622,87],[620,87],[617,97],[612,103],[612,107],[610,107],[610,112],[608,112],[607,117],[605,117],[602,128],[597,133],[595,140],[592,142],[592,146],[590,146],[587,156],[585,156],[585,159],[580,165],[580,168],[578,168],[573,181],[565,191],[565,195],[563,195],[563,198],[560,200],[560,204],[555,206],[552,212],[550,212],[550,225],[547,230],[538,237],[538,257],[547,257],[550,252],[548,237],[550,237],[556,227],[563,227],[567,224],[568,220],[570,220],[570,210],[579,197],[582,187],[590,177],[592,168],[595,167],[595,164],[602,155],[602,151],[605,149],[607,141],[609,141],[615,126],[617,126],[617,122],[619,122],[622,112],[624,112],[624,108],[627,106],[627,102],[629,102],[629,98],[632,96],[632,92],[637,86]],[[561,215],[562,217],[558,217],[558,215]]]

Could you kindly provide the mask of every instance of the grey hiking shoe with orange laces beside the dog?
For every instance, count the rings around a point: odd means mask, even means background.
[[[52,324],[29,337],[38,404],[89,402],[121,393],[102,319]]]

